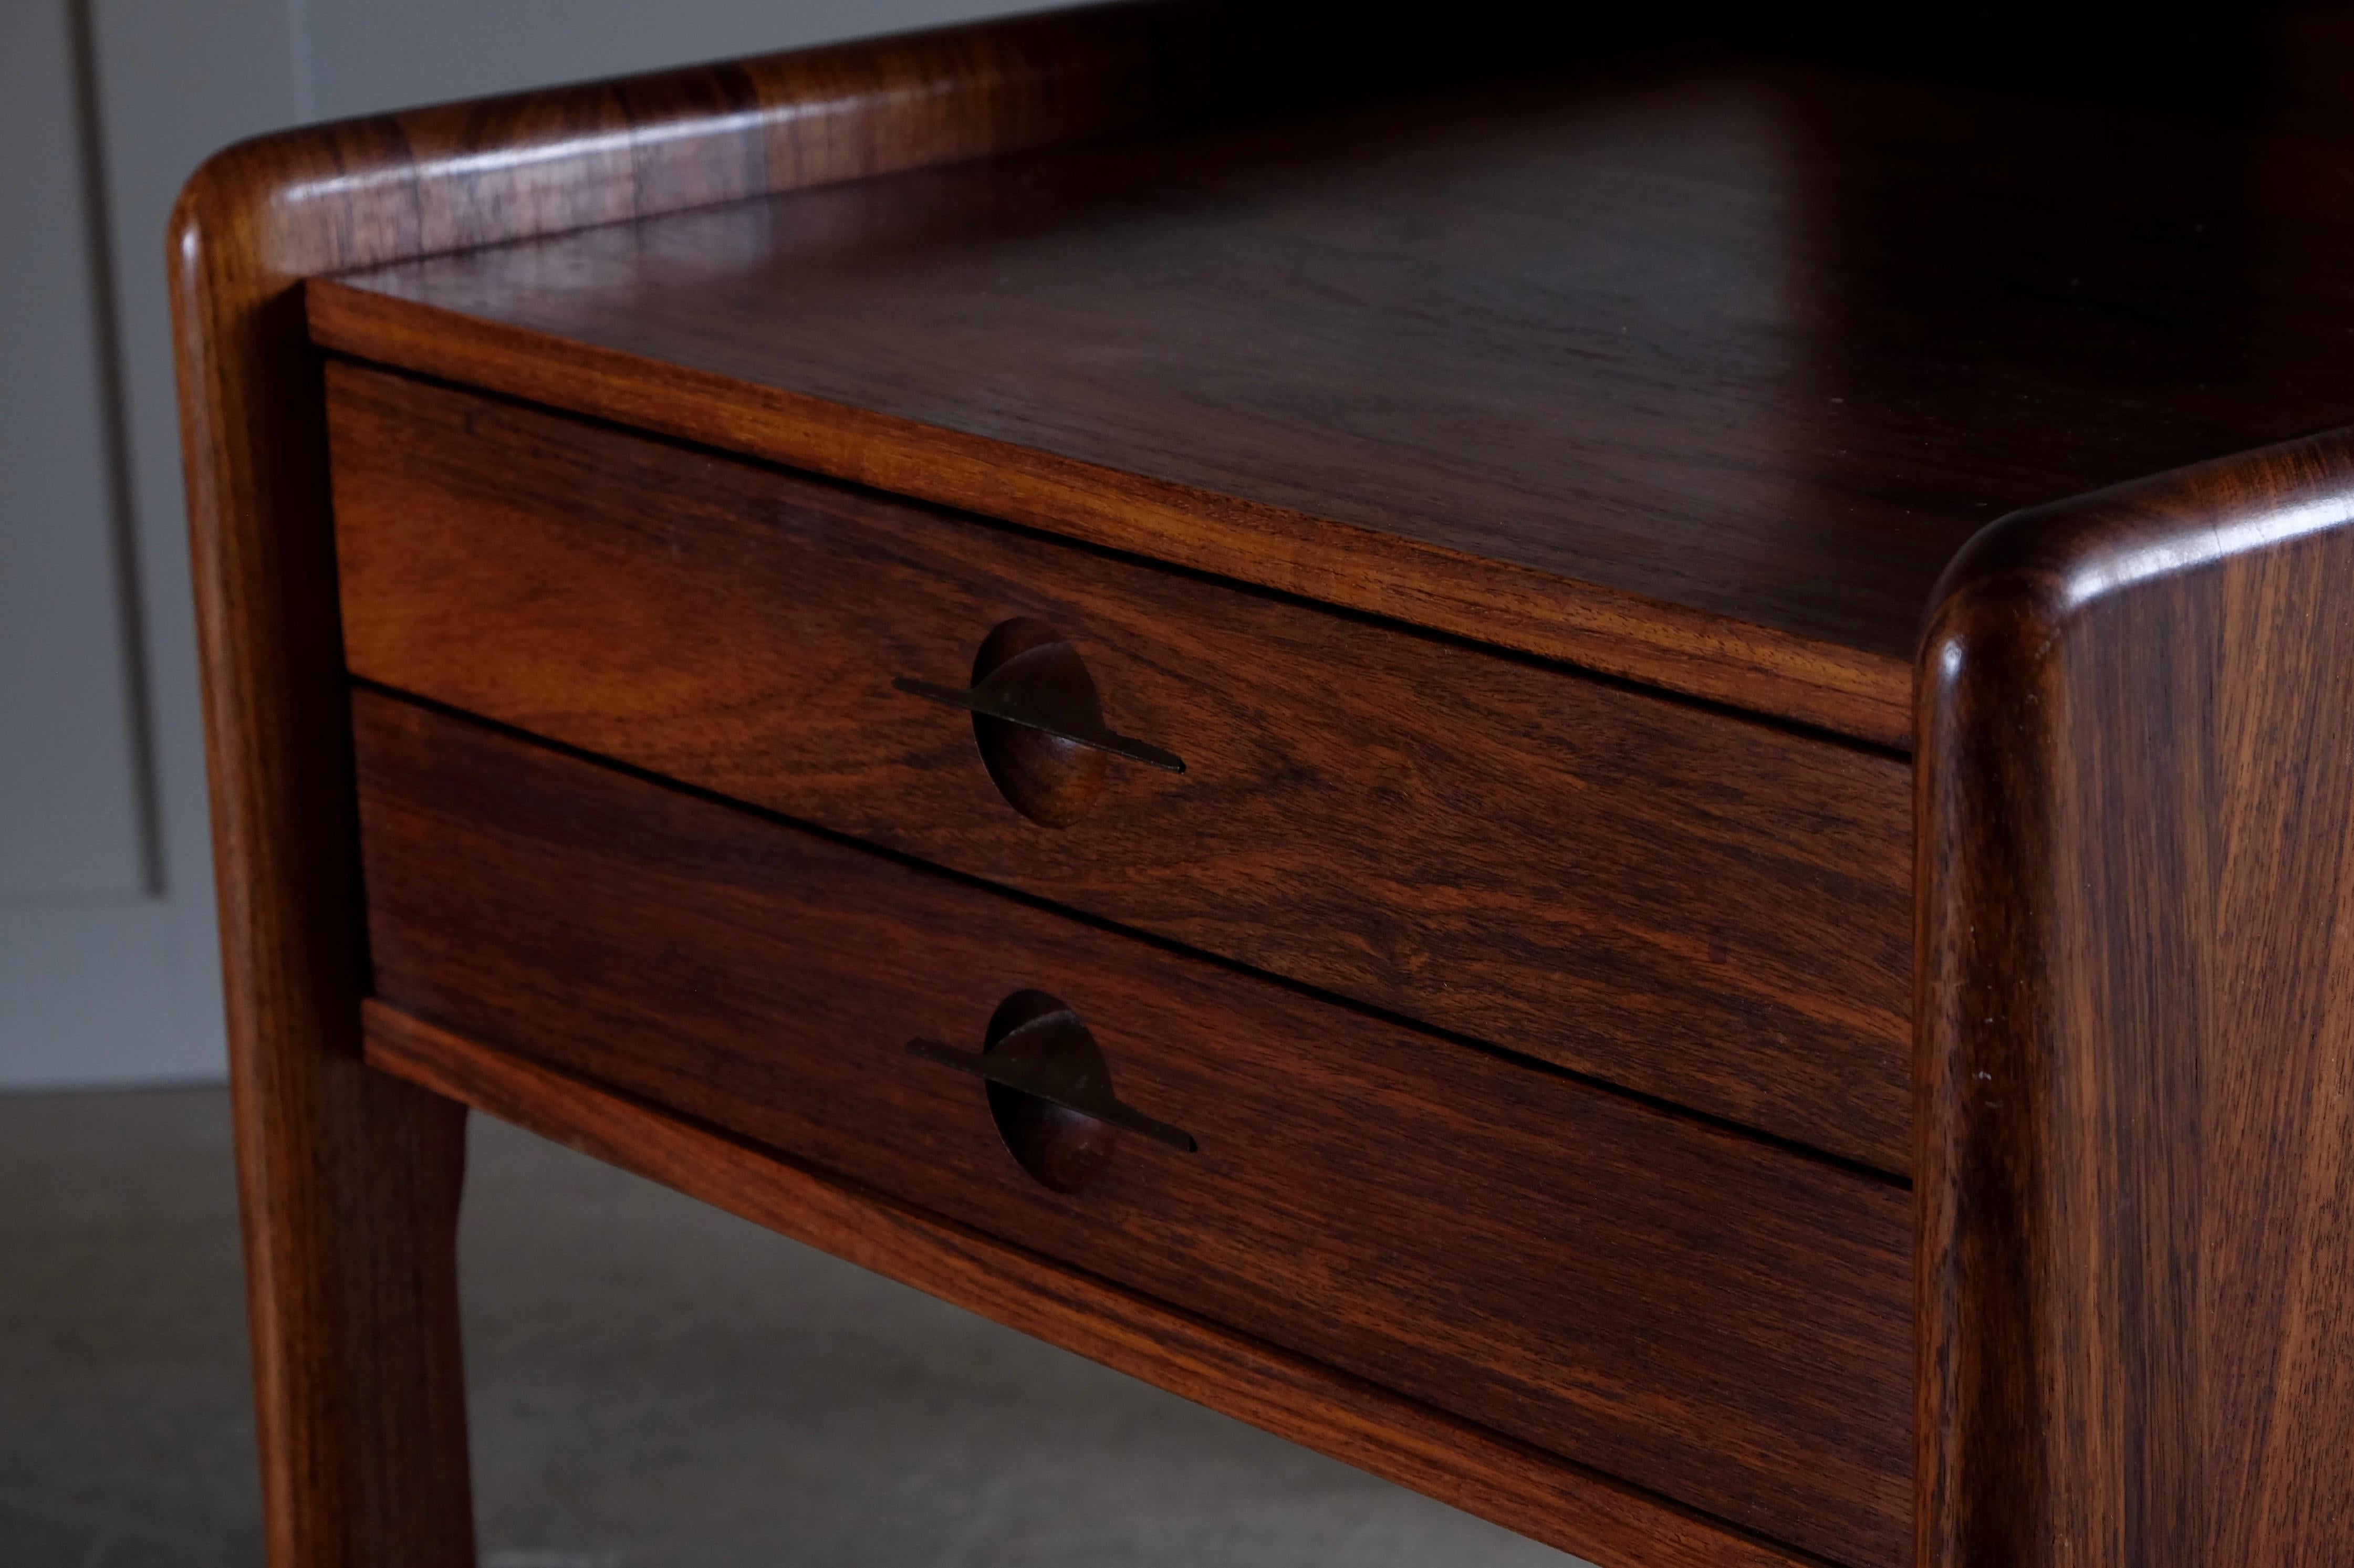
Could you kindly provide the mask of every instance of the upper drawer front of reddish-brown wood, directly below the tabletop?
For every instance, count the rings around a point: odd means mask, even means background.
[[[1897,760],[374,370],[327,412],[358,676],[1907,1168]],[[1012,810],[895,678],[1017,617],[1184,772]]]

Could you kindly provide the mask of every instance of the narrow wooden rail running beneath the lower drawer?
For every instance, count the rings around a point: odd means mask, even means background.
[[[1820,1568],[1624,1481],[774,1151],[367,1003],[367,1062],[1610,1568]]]

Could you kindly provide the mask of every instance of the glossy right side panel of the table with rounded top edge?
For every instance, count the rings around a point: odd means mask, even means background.
[[[1921,1566],[2354,1540],[2354,436],[2006,520],[1921,685]]]

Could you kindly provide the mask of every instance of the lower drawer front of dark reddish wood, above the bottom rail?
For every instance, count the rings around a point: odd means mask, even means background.
[[[1909,1201],[1226,965],[355,697],[374,986],[1777,1540],[1909,1540]],[[1132,1111],[1078,1191],[942,1055],[1017,991]],[[1024,1128],[1031,1128],[1024,1132]],[[1015,1137],[1033,1137],[1017,1123]],[[1026,1144],[1052,1175],[1066,1147]]]

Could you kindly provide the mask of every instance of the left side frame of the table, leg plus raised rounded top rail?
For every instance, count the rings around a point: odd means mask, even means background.
[[[172,330],[275,1568],[473,1559],[450,1278],[459,1109],[360,1064],[325,424],[299,283],[1224,113],[1361,64],[1314,7],[1113,7],[306,127],[188,181]]]

